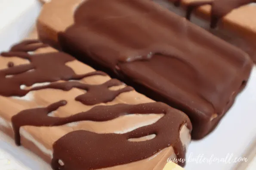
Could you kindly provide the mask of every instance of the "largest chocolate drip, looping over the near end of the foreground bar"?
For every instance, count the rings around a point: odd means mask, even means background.
[[[15,141],[20,145],[19,129],[25,125],[59,126],[71,122],[103,122],[130,114],[164,114],[156,123],[143,126],[125,134],[96,134],[90,131],[72,131],[57,140],[53,145],[52,168],[54,170],[95,170],[149,158],[160,150],[173,146],[179,152],[178,158],[184,158],[185,150],[179,140],[182,125],[191,124],[187,116],[178,110],[160,102],[147,104],[116,104],[95,106],[92,109],[68,117],[51,117],[48,114],[67,104],[59,101],[48,107],[23,110],[12,117]],[[170,122],[172,122],[170,124]],[[156,134],[151,140],[141,142],[128,141],[132,138]],[[75,147],[74,147],[75,146]],[[133,151],[136,149],[136,154]],[[61,166],[58,161],[64,163]]]

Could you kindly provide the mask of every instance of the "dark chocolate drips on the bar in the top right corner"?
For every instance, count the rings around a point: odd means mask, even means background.
[[[199,6],[211,5],[211,28],[216,28],[220,18],[227,15],[233,9],[256,2],[256,0],[202,0],[199,2],[191,2],[187,8],[186,18],[190,20],[191,14]]]

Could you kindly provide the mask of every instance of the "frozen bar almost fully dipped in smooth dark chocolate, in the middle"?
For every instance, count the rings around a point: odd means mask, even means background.
[[[52,0],[37,26],[43,41],[184,111],[194,139],[213,130],[252,69],[243,51],[149,0]]]

